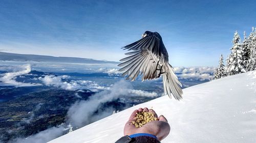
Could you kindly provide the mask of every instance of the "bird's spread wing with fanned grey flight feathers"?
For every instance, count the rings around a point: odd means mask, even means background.
[[[142,80],[158,78],[160,75],[159,57],[165,47],[155,35],[146,36],[132,44],[124,46],[123,49],[135,50],[125,53],[127,58],[121,59],[123,62],[118,66],[123,67],[119,71],[125,71],[122,76],[128,75],[126,79],[134,81],[141,73]],[[167,51],[166,51],[167,53]],[[167,55],[168,57],[168,55]]]

